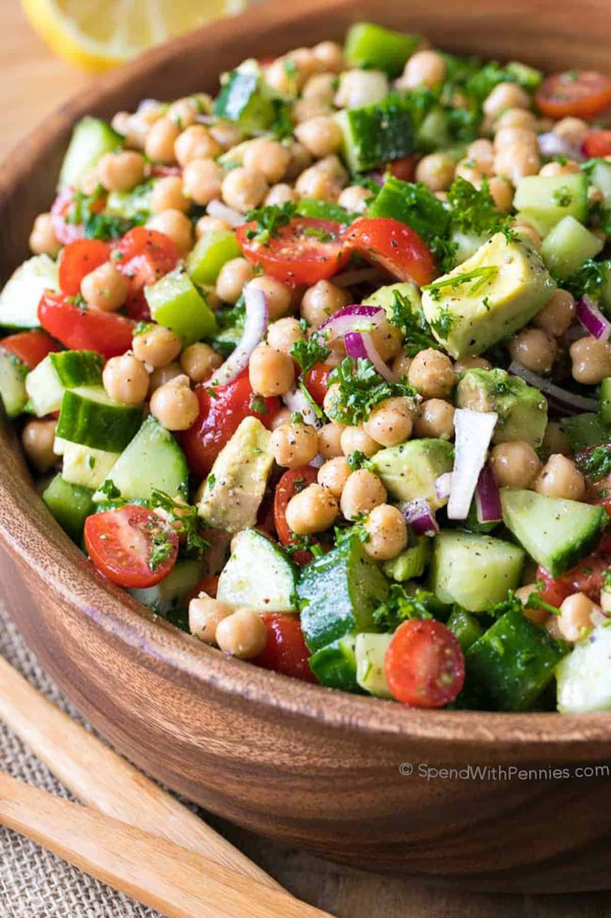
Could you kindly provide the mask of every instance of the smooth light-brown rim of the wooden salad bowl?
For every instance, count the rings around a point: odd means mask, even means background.
[[[334,5],[350,7],[351,0]],[[197,29],[186,37],[154,48],[134,62],[104,74],[91,86],[61,106],[32,130],[9,153],[0,170],[0,213],[12,189],[25,181],[36,162],[44,159],[53,137],[84,114],[110,102],[130,78],[141,76],[164,62],[172,61],[188,47],[201,47],[230,37],[237,28],[248,32],[250,20],[289,17],[284,0],[251,7],[237,17]],[[295,11],[295,6],[297,10]],[[294,0],[290,18],[299,11],[318,7],[321,16],[327,0]],[[0,463],[15,465],[10,431],[0,433]],[[11,477],[15,480],[11,487]],[[122,589],[94,572],[80,550],[55,521],[49,527],[44,505],[31,488],[15,487],[18,476],[0,479],[0,544],[21,565],[44,576],[65,602],[80,609],[107,633],[152,660],[172,666],[192,682],[202,697],[206,686],[225,693],[236,703],[247,703],[283,711],[305,721],[315,721],[340,730],[357,731],[382,738],[400,736],[402,743],[424,742],[448,748],[455,742],[465,751],[487,750],[517,757],[540,757],[554,749],[583,757],[585,747],[594,744],[611,748],[611,717],[605,712],[583,715],[550,713],[494,713],[478,711],[422,711],[395,702],[383,702],[347,692],[325,689],[229,658],[214,648],[194,641],[167,622],[148,617],[143,607]],[[24,484],[26,477],[24,476]],[[36,497],[35,502],[31,497]],[[86,600],[83,599],[86,595]],[[18,622],[18,613],[15,616]],[[77,661],[75,660],[76,664]],[[242,700],[240,702],[240,700]]]

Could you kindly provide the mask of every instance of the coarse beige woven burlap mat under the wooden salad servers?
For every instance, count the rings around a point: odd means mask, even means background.
[[[0,655],[16,667],[43,695],[83,718],[61,696],[24,644],[6,608],[0,603]],[[66,800],[72,795],[49,769],[0,722],[0,768],[37,788]],[[27,838],[0,826],[0,916],[2,918],[157,918],[158,912],[128,899],[93,877],[66,864]]]

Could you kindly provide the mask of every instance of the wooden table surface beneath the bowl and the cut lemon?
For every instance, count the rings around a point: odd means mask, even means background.
[[[50,54],[23,19],[17,0],[0,2],[2,158],[91,77]],[[611,892],[561,898],[455,893],[341,868],[227,823],[211,822],[287,889],[338,918],[606,918],[611,913]]]

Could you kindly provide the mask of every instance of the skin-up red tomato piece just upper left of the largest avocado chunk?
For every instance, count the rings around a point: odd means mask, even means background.
[[[430,284],[437,276],[435,259],[415,229],[390,217],[361,217],[346,233],[350,243],[372,264],[381,264],[400,281]]]

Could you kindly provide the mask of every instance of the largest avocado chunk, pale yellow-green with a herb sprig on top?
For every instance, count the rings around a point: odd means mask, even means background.
[[[439,343],[452,357],[466,357],[521,329],[555,288],[539,252],[499,232],[428,285],[422,308]]]

